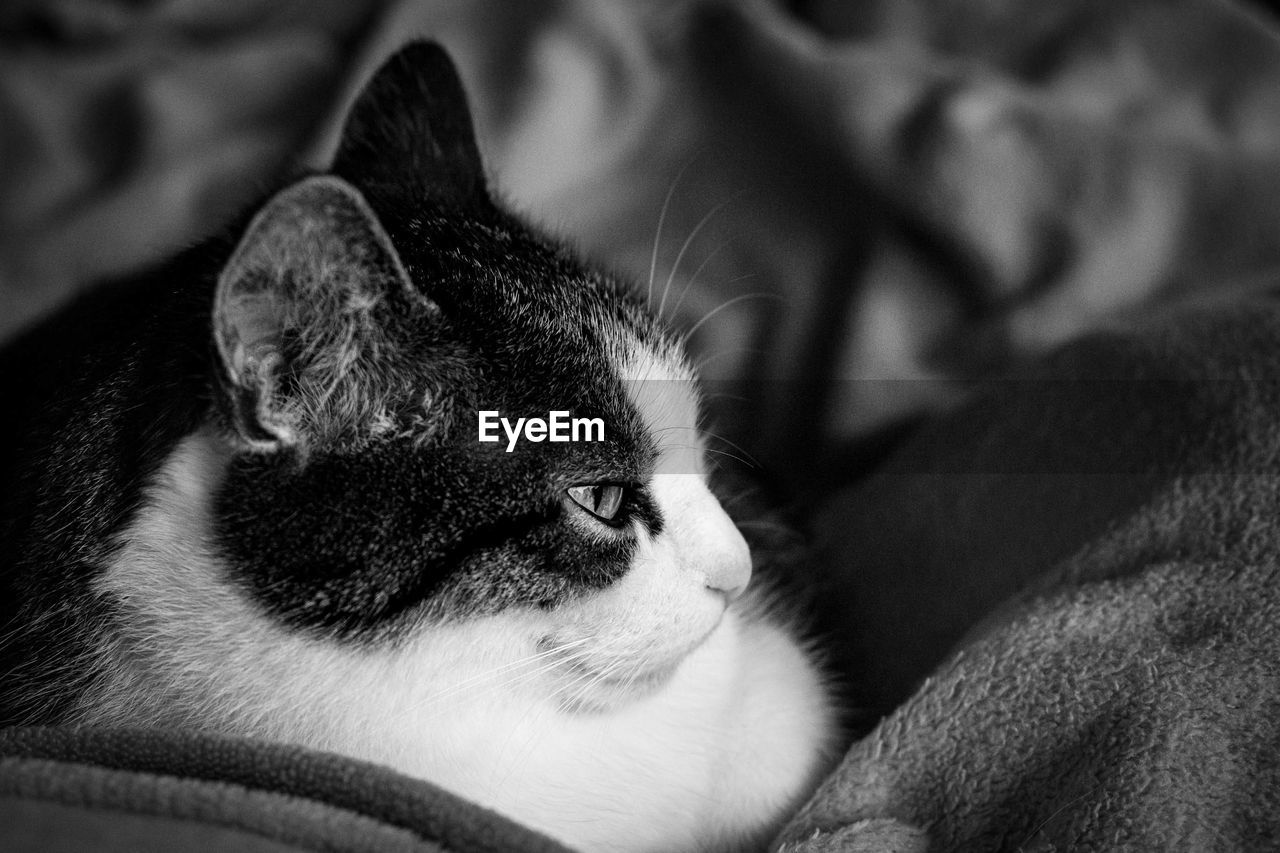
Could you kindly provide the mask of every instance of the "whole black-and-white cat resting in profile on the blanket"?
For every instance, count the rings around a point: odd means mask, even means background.
[[[765,843],[831,688],[748,590],[680,341],[494,200],[443,49],[230,234],[0,355],[0,721],[332,751],[588,850]]]

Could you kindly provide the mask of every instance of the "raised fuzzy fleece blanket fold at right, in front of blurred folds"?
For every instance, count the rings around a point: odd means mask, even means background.
[[[787,850],[1276,848],[1277,341],[1261,297],[1089,336],[828,506],[829,628],[905,702]]]

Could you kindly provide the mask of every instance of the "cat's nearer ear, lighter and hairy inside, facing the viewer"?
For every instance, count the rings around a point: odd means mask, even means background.
[[[275,450],[358,428],[416,295],[372,210],[312,177],[257,213],[218,280],[214,338],[236,430]]]

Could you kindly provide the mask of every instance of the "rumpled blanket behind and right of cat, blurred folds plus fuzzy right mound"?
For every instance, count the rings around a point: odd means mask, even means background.
[[[690,334],[814,537],[861,715],[781,845],[1274,848],[1272,14],[19,0],[0,336],[323,163],[435,37],[494,186]]]

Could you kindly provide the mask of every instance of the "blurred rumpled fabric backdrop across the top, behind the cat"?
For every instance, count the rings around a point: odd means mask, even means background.
[[[785,497],[1082,330],[1280,272],[1280,41],[1245,0],[9,0],[0,336],[323,168],[416,37],[497,192],[690,333]]]

